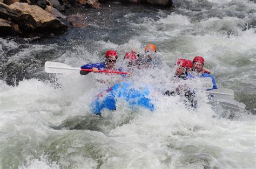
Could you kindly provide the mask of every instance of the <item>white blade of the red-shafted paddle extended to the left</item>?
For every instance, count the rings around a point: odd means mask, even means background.
[[[73,68],[69,65],[59,62],[46,61],[44,64],[44,71],[47,73],[66,73],[70,71],[80,71],[80,68]]]

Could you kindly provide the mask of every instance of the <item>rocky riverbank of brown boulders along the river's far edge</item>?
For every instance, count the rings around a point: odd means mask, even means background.
[[[99,2],[112,2],[112,0],[0,0],[0,36],[31,37],[49,33],[60,34],[68,30],[69,26],[85,27],[84,16],[66,17],[59,11],[64,11],[70,6],[100,8]],[[172,0],[119,0],[119,2],[164,7],[172,5]]]

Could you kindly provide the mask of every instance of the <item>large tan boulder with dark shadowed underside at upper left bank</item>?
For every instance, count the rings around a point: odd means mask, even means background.
[[[18,25],[22,34],[63,32],[68,26],[36,5],[14,3],[10,6],[0,3],[0,18]]]

